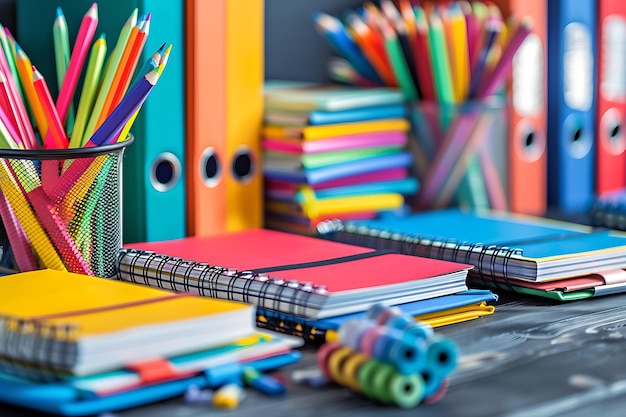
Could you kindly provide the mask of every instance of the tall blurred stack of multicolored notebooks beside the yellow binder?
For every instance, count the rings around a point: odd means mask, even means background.
[[[262,130],[266,226],[308,234],[372,218],[417,193],[402,93],[268,81]]]

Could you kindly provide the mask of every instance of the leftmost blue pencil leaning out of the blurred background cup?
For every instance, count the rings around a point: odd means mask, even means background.
[[[359,74],[370,81],[383,85],[383,81],[376,73],[376,70],[363,55],[363,52],[350,37],[339,19],[326,13],[317,12],[313,14],[313,21],[318,32],[324,36],[338,54],[352,64]]]

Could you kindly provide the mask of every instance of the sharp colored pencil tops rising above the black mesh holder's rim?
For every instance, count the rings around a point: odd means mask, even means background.
[[[126,139],[136,113],[167,63],[171,45],[167,49],[163,45],[137,70],[150,31],[150,14],[138,18],[137,9],[133,10],[108,60],[105,35],[94,41],[97,25],[98,6],[94,3],[70,49],[67,23],[62,10],[57,9],[53,25],[59,90],[56,100],[26,52],[6,28],[0,28],[1,147],[80,148]],[[84,81],[78,89],[81,75]]]

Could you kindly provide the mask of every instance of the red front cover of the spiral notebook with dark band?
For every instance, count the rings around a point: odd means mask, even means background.
[[[326,286],[330,293],[426,279],[471,268],[470,265],[376,252],[360,246],[267,229],[127,246],[237,268],[239,271],[265,272],[285,280],[312,282]],[[369,256],[358,256],[363,254]],[[319,264],[296,267],[309,263]],[[289,265],[294,265],[294,268]]]

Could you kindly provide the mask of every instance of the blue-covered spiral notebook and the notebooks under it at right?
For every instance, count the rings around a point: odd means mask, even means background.
[[[626,234],[497,211],[326,221],[321,236],[474,266],[473,287],[579,300],[626,291]]]

